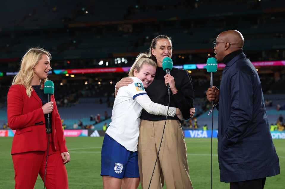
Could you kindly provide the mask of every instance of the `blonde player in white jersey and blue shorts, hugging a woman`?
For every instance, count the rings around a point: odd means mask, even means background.
[[[105,189],[135,189],[139,185],[138,135],[142,109],[150,114],[167,115],[168,106],[153,103],[145,91],[153,82],[157,65],[139,54],[130,69],[131,85],[117,93],[112,121],[103,140],[101,176]],[[178,108],[169,107],[168,116],[183,119]]]

